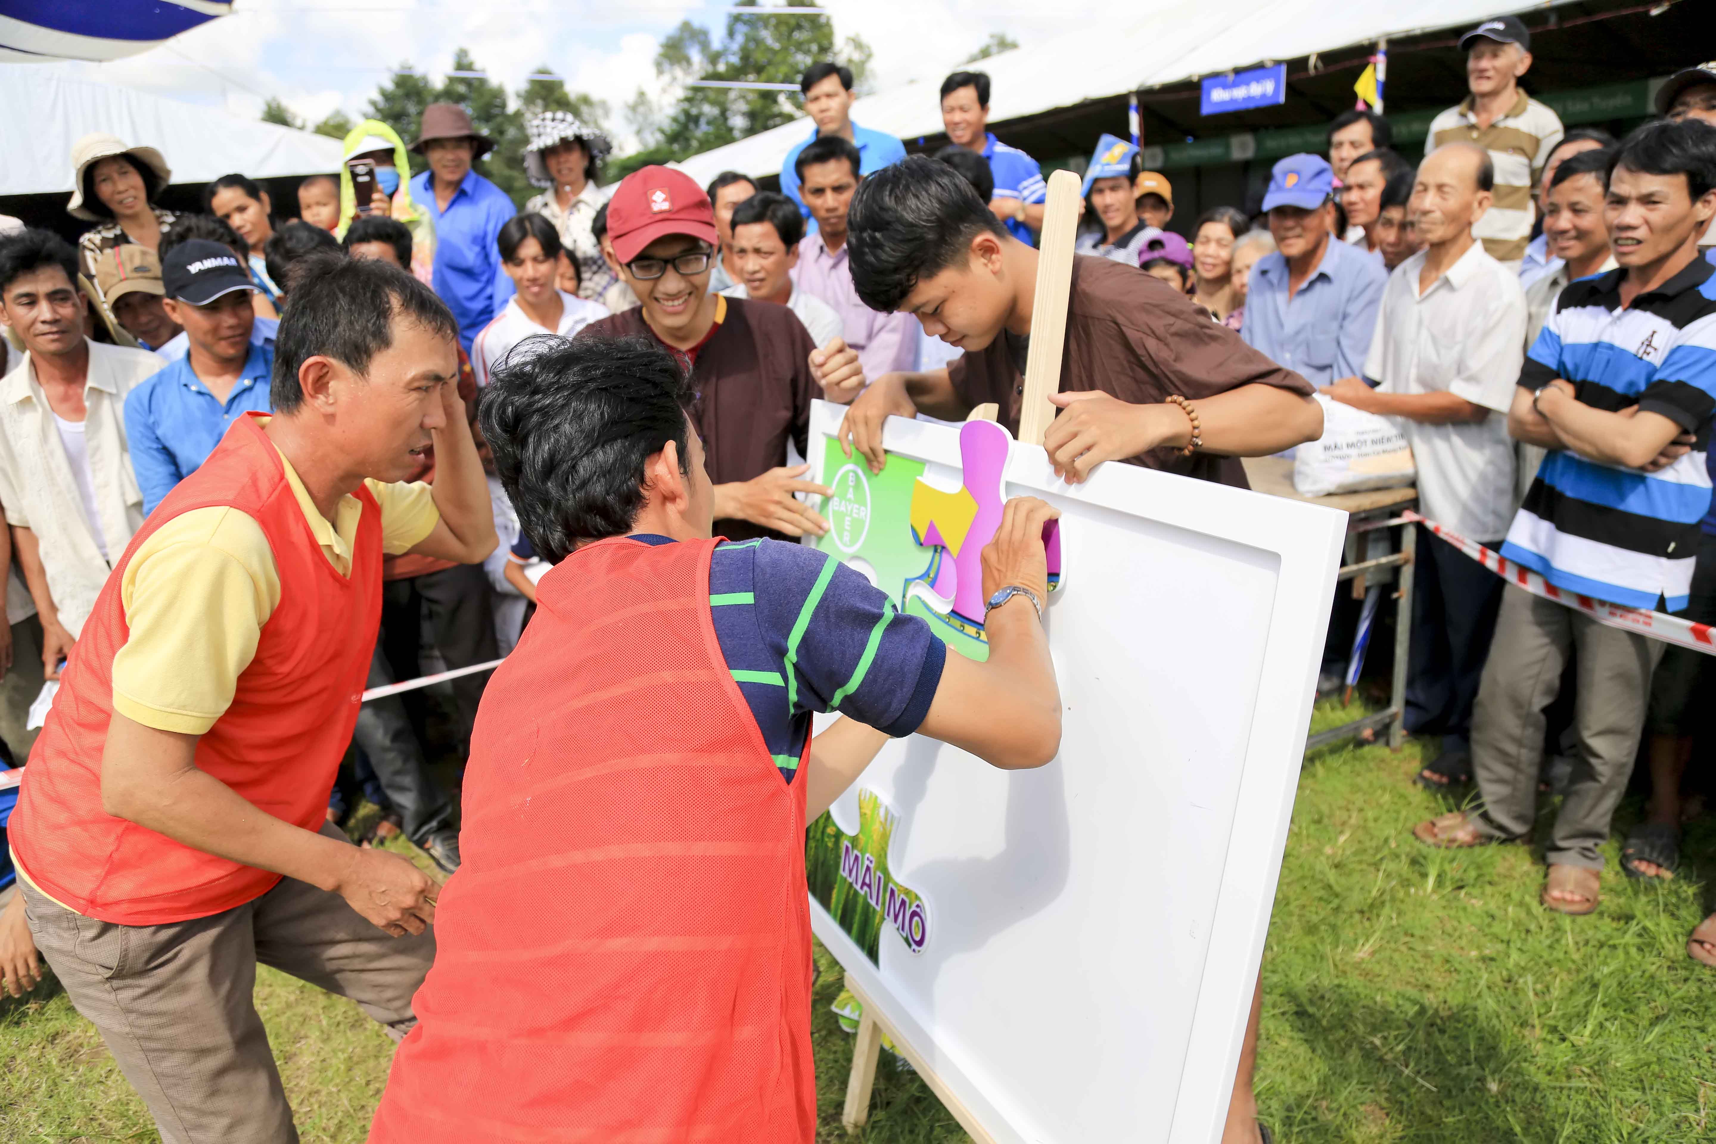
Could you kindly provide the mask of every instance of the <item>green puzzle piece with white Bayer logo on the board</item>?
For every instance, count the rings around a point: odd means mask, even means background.
[[[834,489],[834,496],[824,509],[829,533],[817,540],[817,547],[839,561],[861,559],[899,611],[921,616],[942,643],[966,659],[987,660],[988,643],[978,629],[939,614],[921,599],[906,599],[908,583],[932,583],[937,561],[947,559],[946,549],[925,547],[911,532],[911,492],[923,475],[923,461],[891,453],[882,472],[872,473],[861,461],[841,453],[834,437],[824,448],[822,472],[827,477],[822,484]]]

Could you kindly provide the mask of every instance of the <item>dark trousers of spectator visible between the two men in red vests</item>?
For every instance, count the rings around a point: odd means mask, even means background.
[[[448,667],[496,659],[492,592],[480,564],[390,580],[381,588],[381,631],[369,662],[371,688],[422,674],[424,628]],[[487,672],[451,681],[458,705],[458,755],[470,750],[470,724],[482,701]],[[422,842],[451,822],[453,803],[429,774],[407,695],[364,703],[353,739],[369,758],[381,789],[400,813],[405,837]]]

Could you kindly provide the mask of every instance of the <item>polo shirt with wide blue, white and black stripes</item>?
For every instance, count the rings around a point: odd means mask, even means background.
[[[1694,434],[1692,451],[1646,473],[1555,449],[1538,470],[1502,554],[1550,583],[1628,607],[1682,611],[1699,521],[1711,506],[1706,467],[1716,412],[1716,274],[1694,259],[1622,309],[1625,268],[1572,281],[1526,355],[1519,384],[1562,377],[1599,410],[1639,406]]]

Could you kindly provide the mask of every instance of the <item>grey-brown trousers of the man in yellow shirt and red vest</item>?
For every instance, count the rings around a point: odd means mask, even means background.
[[[345,840],[335,827],[323,834]],[[338,894],[281,878],[211,918],[120,926],[19,883],[36,947],[101,1031],[163,1144],[297,1144],[251,993],[256,964],[348,996],[400,1039],[434,960],[434,931],[395,938]]]

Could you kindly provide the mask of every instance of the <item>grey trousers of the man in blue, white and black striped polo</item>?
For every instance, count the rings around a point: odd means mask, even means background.
[[[1551,864],[1603,870],[1599,847],[1632,775],[1651,672],[1666,645],[1606,628],[1522,588],[1508,588],[1502,597],[1472,708],[1472,774],[1483,798],[1472,822],[1493,839],[1531,834],[1543,765],[1543,710],[1555,700],[1575,647],[1579,751],[1544,858]]]

